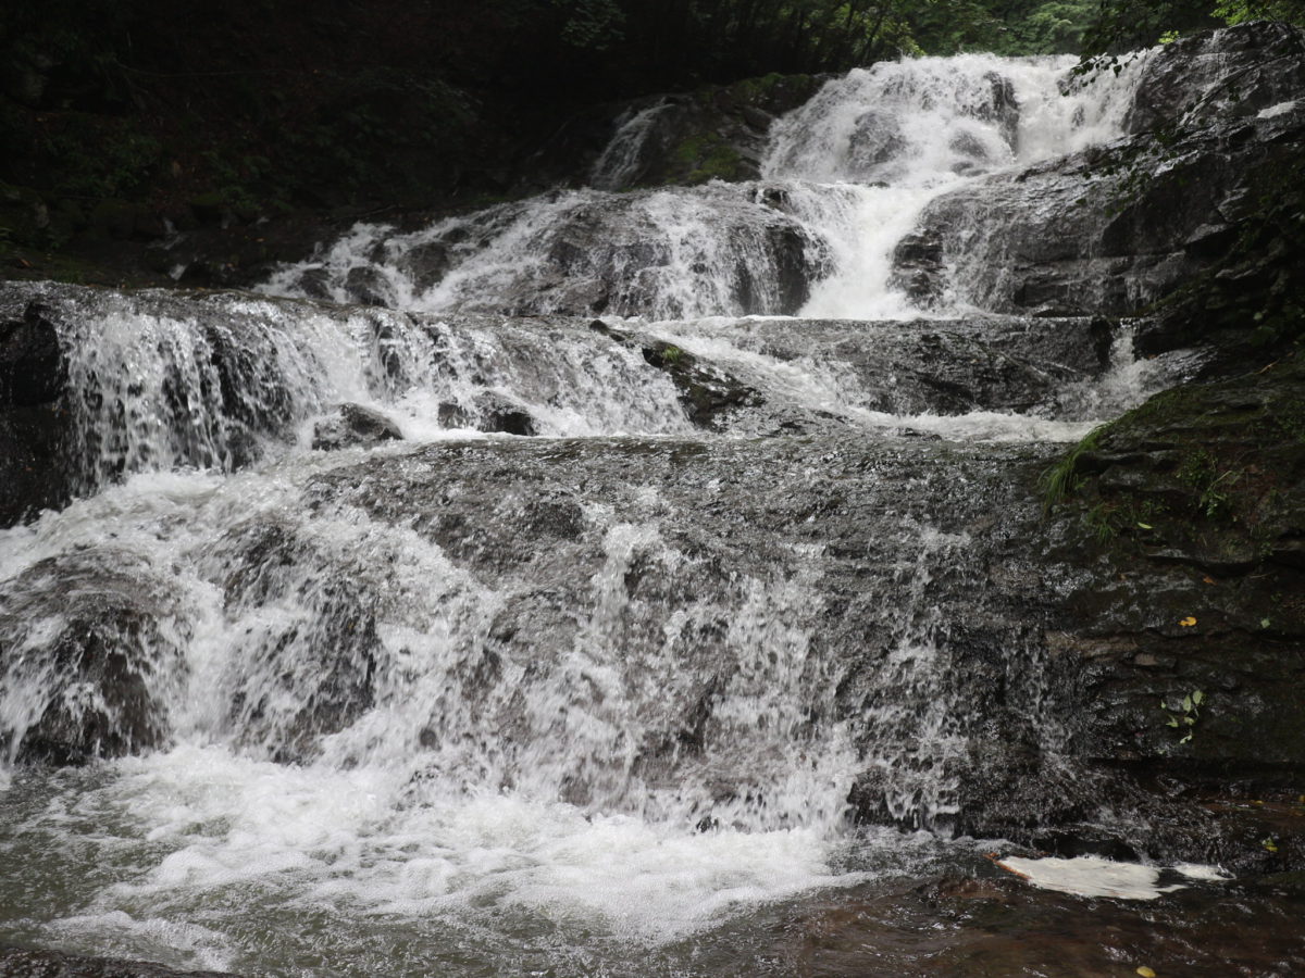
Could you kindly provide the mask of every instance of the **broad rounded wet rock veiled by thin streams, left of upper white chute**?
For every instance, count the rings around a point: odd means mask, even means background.
[[[796,218],[736,188],[701,188],[673,211],[655,193],[553,194],[543,202],[547,220],[539,206],[500,205],[378,243],[412,289],[431,289],[457,270],[455,309],[509,316],[791,314],[823,262],[825,246]],[[685,220],[719,228],[719,244],[685,253]],[[504,236],[519,241],[519,259],[504,261],[493,248]],[[295,287],[330,293],[361,270],[325,282],[321,274],[305,269]]]

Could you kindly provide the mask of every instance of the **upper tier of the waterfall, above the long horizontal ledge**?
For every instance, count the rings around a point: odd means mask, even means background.
[[[360,224],[262,291],[437,313],[917,317],[893,250],[928,202],[1121,137],[1147,57],[1087,81],[1071,57],[856,69],[770,126],[761,183],[551,193],[408,233]],[[642,172],[675,111],[628,116],[595,188]]]

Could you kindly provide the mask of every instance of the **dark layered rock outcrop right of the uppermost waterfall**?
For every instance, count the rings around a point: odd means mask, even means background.
[[[1305,140],[1302,89],[1305,43],[1291,27],[1165,48],[1143,69],[1135,136],[938,198],[898,248],[899,279],[920,297],[950,284],[994,312],[1133,314],[1237,240]]]

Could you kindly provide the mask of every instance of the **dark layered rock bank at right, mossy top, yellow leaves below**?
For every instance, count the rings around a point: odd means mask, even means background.
[[[1084,692],[1108,704],[1086,752],[1300,776],[1302,391],[1298,357],[1180,387],[1108,425],[1066,463],[1079,484],[1062,516],[1066,542],[1091,536],[1108,561],[1069,606],[1082,622],[1078,651],[1091,660]],[[1174,704],[1193,690],[1205,692],[1195,725],[1184,721],[1174,734],[1155,722],[1188,712]]]

